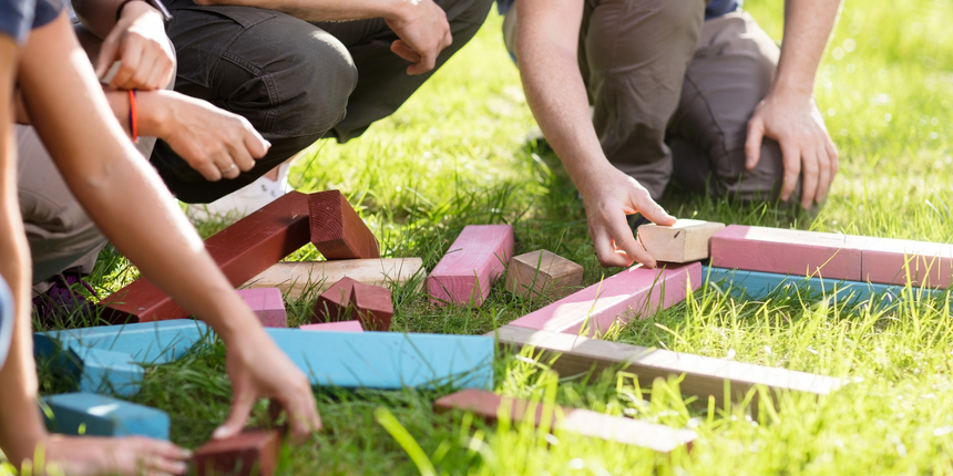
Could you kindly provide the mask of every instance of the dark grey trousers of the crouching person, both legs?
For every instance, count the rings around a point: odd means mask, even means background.
[[[480,29],[492,0],[435,0],[453,44],[442,66]],[[398,39],[383,19],[308,23],[259,8],[167,2],[175,44],[175,91],[245,116],[271,143],[255,168],[233,180],[207,182],[161,141],[151,162],[183,201],[209,203],[250,184],[278,164],[332,136],[346,142],[387,117],[424,81],[390,51]]]

